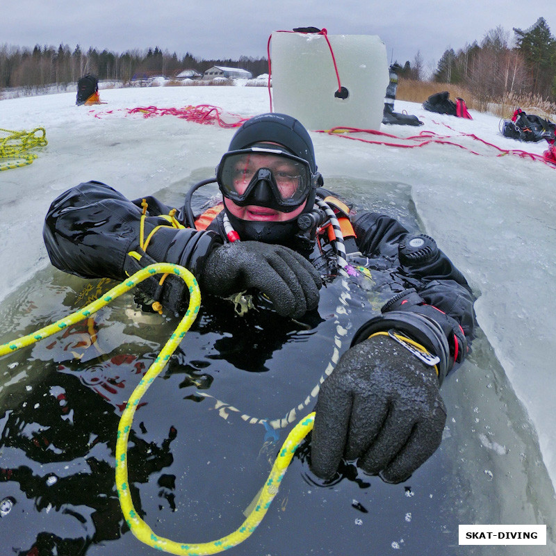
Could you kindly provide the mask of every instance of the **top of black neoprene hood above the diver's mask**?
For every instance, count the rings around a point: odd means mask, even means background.
[[[313,174],[317,170],[313,141],[304,126],[286,114],[268,113],[252,117],[232,138],[230,151],[245,149],[260,142],[276,142],[295,156],[309,163]]]

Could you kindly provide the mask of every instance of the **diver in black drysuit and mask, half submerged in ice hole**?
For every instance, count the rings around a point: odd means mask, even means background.
[[[223,204],[197,218],[190,199],[177,211],[154,197],[131,201],[98,181],[67,190],[44,223],[51,262],[117,280],[150,263],[179,263],[204,296],[254,290],[279,315],[301,318],[316,311],[323,280],[338,275],[341,248],[327,207],[343,231],[347,272],[370,272],[386,302],[380,311],[368,307],[320,388],[311,469],[329,478],[345,458],[388,482],[407,480],[441,443],[440,386],[473,337],[465,277],[429,236],[388,215],[354,211],[325,190],[311,137],[288,115],[245,122],[207,181],[218,182]],[[142,288],[179,313],[188,300],[182,284],[153,278]]]

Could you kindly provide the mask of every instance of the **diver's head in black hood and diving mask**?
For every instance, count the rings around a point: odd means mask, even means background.
[[[313,142],[300,122],[263,114],[245,122],[217,168],[232,227],[244,240],[288,243],[320,183]]]

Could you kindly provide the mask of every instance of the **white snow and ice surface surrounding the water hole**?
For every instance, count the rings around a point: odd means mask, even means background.
[[[269,109],[268,92],[258,87],[113,88],[101,90],[101,100],[106,105],[76,107],[75,93],[65,92],[0,101],[3,128],[44,126],[49,141],[32,165],[0,172],[0,299],[49,264],[41,233],[54,197],[89,179],[130,198],[165,187],[186,190],[214,175],[234,133],[173,116],[127,115],[126,108],[209,104],[242,117]],[[498,117],[489,114],[471,111],[473,120],[461,120],[395,101],[395,111],[404,110],[425,125],[382,126],[382,131],[400,138],[433,131],[465,148],[430,143],[406,149],[312,133],[319,170],[325,183],[328,177],[361,187],[370,182],[411,187],[423,228],[480,295],[477,320],[536,427],[555,484],[556,168],[512,154],[496,156],[500,152],[493,147],[461,133],[535,154],[542,154],[546,143],[504,138]]]

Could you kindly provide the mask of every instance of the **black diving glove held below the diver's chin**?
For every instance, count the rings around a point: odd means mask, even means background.
[[[199,277],[202,291],[227,296],[256,288],[281,316],[300,318],[318,306],[320,275],[302,255],[259,241],[218,247],[208,255]]]

